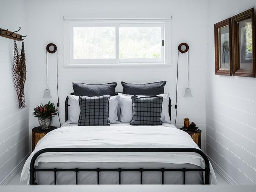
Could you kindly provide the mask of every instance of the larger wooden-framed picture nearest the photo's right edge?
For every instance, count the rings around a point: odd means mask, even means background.
[[[255,78],[254,8],[232,17],[232,36],[233,75]]]

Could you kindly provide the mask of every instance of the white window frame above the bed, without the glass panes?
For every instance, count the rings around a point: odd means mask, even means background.
[[[64,19],[64,66],[167,66],[171,64],[171,18],[157,19]],[[115,59],[73,59],[73,28],[74,27],[115,27]],[[160,26],[161,58],[152,59],[120,59],[119,58],[119,27]]]

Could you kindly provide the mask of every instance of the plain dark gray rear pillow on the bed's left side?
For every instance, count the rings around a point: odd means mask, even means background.
[[[72,83],[74,94],[77,96],[115,96],[115,87],[117,83],[106,84],[86,84],[86,83]]]

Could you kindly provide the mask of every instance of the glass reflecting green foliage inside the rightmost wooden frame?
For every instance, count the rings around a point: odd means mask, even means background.
[[[252,69],[252,19],[238,22],[239,26],[239,69]]]

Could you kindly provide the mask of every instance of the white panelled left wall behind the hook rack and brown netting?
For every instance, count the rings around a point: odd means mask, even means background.
[[[0,13],[1,28],[14,31],[21,27],[19,33],[26,34],[23,0],[1,1]],[[21,43],[17,44],[20,50]],[[29,110],[28,107],[19,109],[13,87],[12,65],[13,40],[0,37],[0,184],[6,183],[10,176],[15,174],[22,160],[30,152]],[[28,106],[27,95],[26,92]]]

